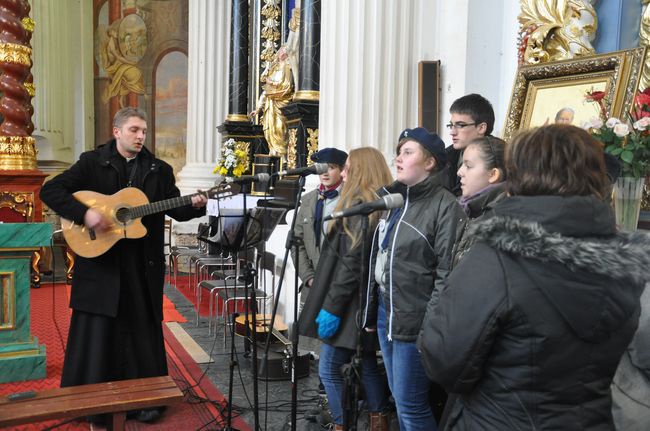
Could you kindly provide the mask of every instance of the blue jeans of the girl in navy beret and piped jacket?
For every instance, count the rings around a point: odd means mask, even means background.
[[[388,318],[381,294],[377,334],[384,357],[388,385],[393,393],[401,431],[435,431],[436,420],[429,405],[429,379],[415,342],[388,340]]]

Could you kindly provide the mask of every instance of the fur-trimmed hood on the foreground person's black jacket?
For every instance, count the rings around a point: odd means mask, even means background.
[[[650,235],[616,233],[608,204],[509,197],[494,212],[468,235],[513,257],[578,338],[602,342],[638,316],[650,281]]]

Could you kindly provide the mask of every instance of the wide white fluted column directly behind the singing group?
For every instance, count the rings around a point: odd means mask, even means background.
[[[392,158],[399,133],[417,122],[417,14],[426,4],[322,3],[321,147],[373,146]]]

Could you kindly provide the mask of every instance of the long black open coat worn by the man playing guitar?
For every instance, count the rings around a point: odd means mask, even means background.
[[[61,217],[83,224],[87,207],[77,201],[72,193],[90,190],[112,195],[126,183],[119,168],[119,157],[112,139],[95,150],[87,151],[67,171],[43,185],[41,199]],[[156,159],[143,148],[138,157],[137,179],[149,202],[180,195],[171,166]],[[179,221],[190,220],[205,214],[205,209],[184,206],[142,218],[147,234],[141,241],[141,268],[151,296],[155,316],[162,320],[162,289],[165,274],[163,234],[165,214]],[[119,248],[113,246],[96,258],[77,256],[72,280],[70,307],[89,313],[116,316],[120,297]]]

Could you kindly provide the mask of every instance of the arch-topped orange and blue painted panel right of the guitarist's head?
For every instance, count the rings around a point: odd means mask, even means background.
[[[166,54],[156,68],[156,156],[178,174],[185,166],[187,136],[187,56]]]

